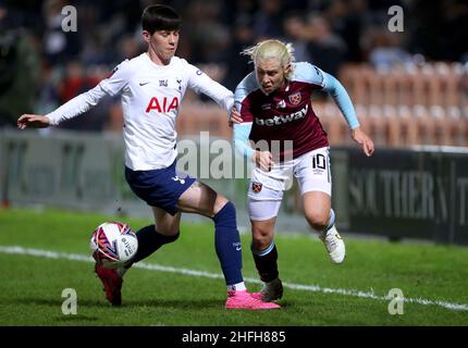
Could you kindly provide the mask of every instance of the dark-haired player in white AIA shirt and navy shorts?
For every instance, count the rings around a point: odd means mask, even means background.
[[[181,212],[198,213],[214,222],[217,256],[227,286],[226,309],[272,309],[246,290],[242,275],[241,238],[234,204],[207,185],[176,172],[175,119],[187,88],[202,92],[231,111],[234,95],[184,59],[174,55],[181,20],[168,5],[149,5],[141,16],[147,52],[125,60],[112,75],[47,115],[22,115],[20,129],[47,127],[75,117],[104,96],[122,97],[125,140],[125,178],[132,190],[152,209],[156,225],[139,229],[138,250],[130,264],[118,270],[95,270],[108,300],[120,306],[122,276],[132,266],[180,233]]]

